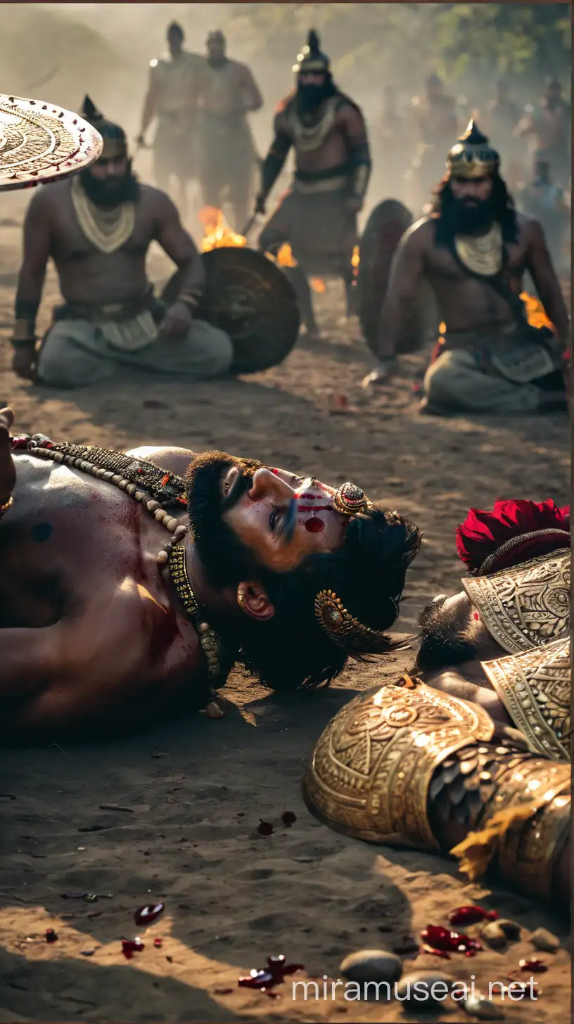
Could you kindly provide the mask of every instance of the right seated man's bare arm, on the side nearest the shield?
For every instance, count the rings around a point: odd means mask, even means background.
[[[424,270],[429,228],[428,221],[414,224],[401,239],[395,254],[378,328],[377,355],[382,362],[394,360],[401,332],[412,312]]]

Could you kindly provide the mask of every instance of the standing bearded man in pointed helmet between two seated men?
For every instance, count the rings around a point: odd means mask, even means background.
[[[288,242],[297,267],[285,268],[297,292],[308,336],[319,334],[308,274],[336,274],[346,286],[352,308],[353,248],[371,172],[363,115],[336,87],[329,57],[317,33],[297,57],[297,86],[280,104],[275,137],[264,160],[257,212],[265,202],[291,148],[295,176],[291,189],[265,224],[259,248],[277,252]]]

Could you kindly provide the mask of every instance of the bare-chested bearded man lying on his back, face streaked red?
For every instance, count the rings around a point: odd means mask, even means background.
[[[276,690],[328,685],[393,646],[420,537],[354,484],[218,452],[10,438],[12,412],[0,421],[5,737],[197,710],[236,660]]]

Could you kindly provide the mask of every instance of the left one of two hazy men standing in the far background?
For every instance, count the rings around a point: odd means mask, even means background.
[[[167,30],[169,55],[150,62],[150,83],[137,142],[146,145],[146,132],[157,118],[154,179],[158,188],[168,191],[170,178],[176,178],[179,213],[184,218],[188,183],[199,178],[198,76],[205,58],[184,50],[183,39],[181,26],[172,22]]]

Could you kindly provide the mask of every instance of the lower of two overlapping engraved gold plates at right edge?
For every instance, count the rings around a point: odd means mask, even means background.
[[[482,666],[531,751],[569,762],[570,638]]]

